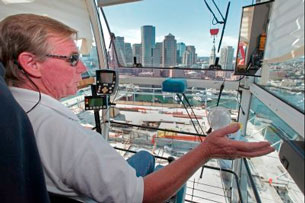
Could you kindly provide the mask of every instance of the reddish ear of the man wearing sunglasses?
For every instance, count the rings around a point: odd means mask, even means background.
[[[32,77],[40,78],[39,62],[36,60],[34,54],[30,52],[22,52],[18,56],[18,62],[23,70]]]

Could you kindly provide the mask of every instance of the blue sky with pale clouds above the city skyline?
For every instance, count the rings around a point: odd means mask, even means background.
[[[233,46],[236,50],[239,36],[242,6],[251,5],[253,0],[231,0],[223,46]],[[207,0],[217,13],[212,0]],[[225,16],[228,0],[215,0]],[[198,56],[209,56],[213,46],[210,29],[218,28],[216,49],[218,48],[222,25],[213,25],[213,16],[204,0],[143,0],[104,7],[111,32],[125,37],[125,42],[141,43],[141,26],[156,27],[156,42],[171,33],[177,42],[193,45]],[[217,18],[221,20],[220,15]],[[217,51],[217,50],[216,50]],[[217,53],[219,56],[220,53]]]

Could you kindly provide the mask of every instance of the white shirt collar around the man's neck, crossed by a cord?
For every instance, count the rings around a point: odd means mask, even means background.
[[[10,87],[10,91],[14,95],[15,99],[19,103],[21,103],[21,106],[23,101],[30,102],[33,103],[33,105],[35,105],[39,99],[39,93],[33,90],[28,90],[18,87]],[[60,103],[58,100],[50,97],[49,95],[41,93],[41,101],[39,105],[50,108],[56,111],[57,113],[62,114],[72,120],[79,121],[77,116],[70,109],[68,109],[65,105]],[[28,111],[29,109],[24,109],[24,110]]]

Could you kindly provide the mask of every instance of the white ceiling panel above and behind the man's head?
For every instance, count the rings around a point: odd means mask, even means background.
[[[76,29],[79,38],[92,42],[93,36],[85,0],[34,0],[31,3],[13,4],[4,4],[0,0],[0,20],[19,13],[49,16]]]

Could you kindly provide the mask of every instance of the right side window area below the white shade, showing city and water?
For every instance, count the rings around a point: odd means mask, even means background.
[[[304,112],[304,57],[281,63],[266,64],[269,77],[258,84],[285,102]]]

